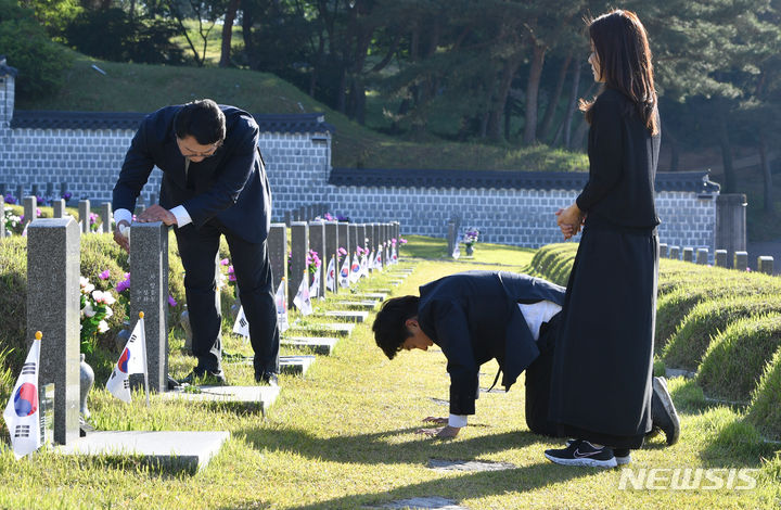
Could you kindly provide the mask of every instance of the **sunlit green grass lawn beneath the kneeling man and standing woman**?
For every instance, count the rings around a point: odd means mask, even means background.
[[[415,271],[394,288],[417,292],[430,280],[468,269],[494,269],[482,257],[528,270],[533,253],[478,244],[475,259],[431,259],[437,240],[410,237],[402,266]],[[423,242],[426,241],[426,242]],[[444,250],[443,250],[444,251]],[[423,258],[409,258],[418,255]],[[512,266],[512,267],[508,267]],[[362,289],[387,286],[373,277]],[[227,322],[226,322],[227,323]],[[693,381],[670,388],[682,418],[681,441],[667,448],[655,438],[632,454],[632,468],[758,469],[751,490],[619,490],[622,470],[565,468],[545,460],[556,446],[532,434],[524,422],[523,381],[509,394],[482,394],[477,413],[456,439],[415,434],[427,416],[447,416],[449,379],[438,349],[400,353],[387,360],[374,345],[370,323],[359,324],[330,357],[319,357],[306,377],[282,377],[282,392],[264,419],[225,404],[169,403],[141,395],[131,405],[111,397],[99,381],[90,399],[101,429],[227,430],[231,438],[194,475],[161,472],[135,459],[62,458],[40,452],[16,461],[0,452],[0,508],[364,508],[415,496],[440,496],[471,508],[778,508],[781,459],[743,422],[743,410],[705,400]],[[176,331],[176,330],[175,330]],[[185,374],[193,358],[171,339],[170,366]],[[228,336],[226,349],[249,347]],[[482,368],[487,387],[496,364]],[[251,368],[227,365],[233,383],[249,383]],[[440,472],[430,459],[479,459],[515,469],[483,473]]]

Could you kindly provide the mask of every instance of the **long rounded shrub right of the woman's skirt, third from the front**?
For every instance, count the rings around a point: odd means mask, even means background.
[[[781,313],[781,295],[740,296],[700,303],[665,346],[664,360],[670,367],[696,370],[712,337],[737,320],[768,313]]]

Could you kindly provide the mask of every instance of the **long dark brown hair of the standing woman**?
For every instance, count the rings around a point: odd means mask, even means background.
[[[597,53],[600,78],[635,103],[638,114],[652,135],[658,133],[656,89],[645,28],[637,14],[620,9],[588,22],[589,37]],[[580,100],[580,110],[591,123],[593,101]]]

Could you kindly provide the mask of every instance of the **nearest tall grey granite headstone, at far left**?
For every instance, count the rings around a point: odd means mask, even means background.
[[[54,441],[62,445],[79,436],[80,243],[72,217],[27,229],[27,337],[43,333],[39,384],[54,383]]]

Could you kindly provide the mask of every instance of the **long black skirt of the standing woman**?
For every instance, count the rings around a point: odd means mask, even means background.
[[[639,448],[651,430],[656,229],[589,218],[562,309],[550,419],[562,437]]]

